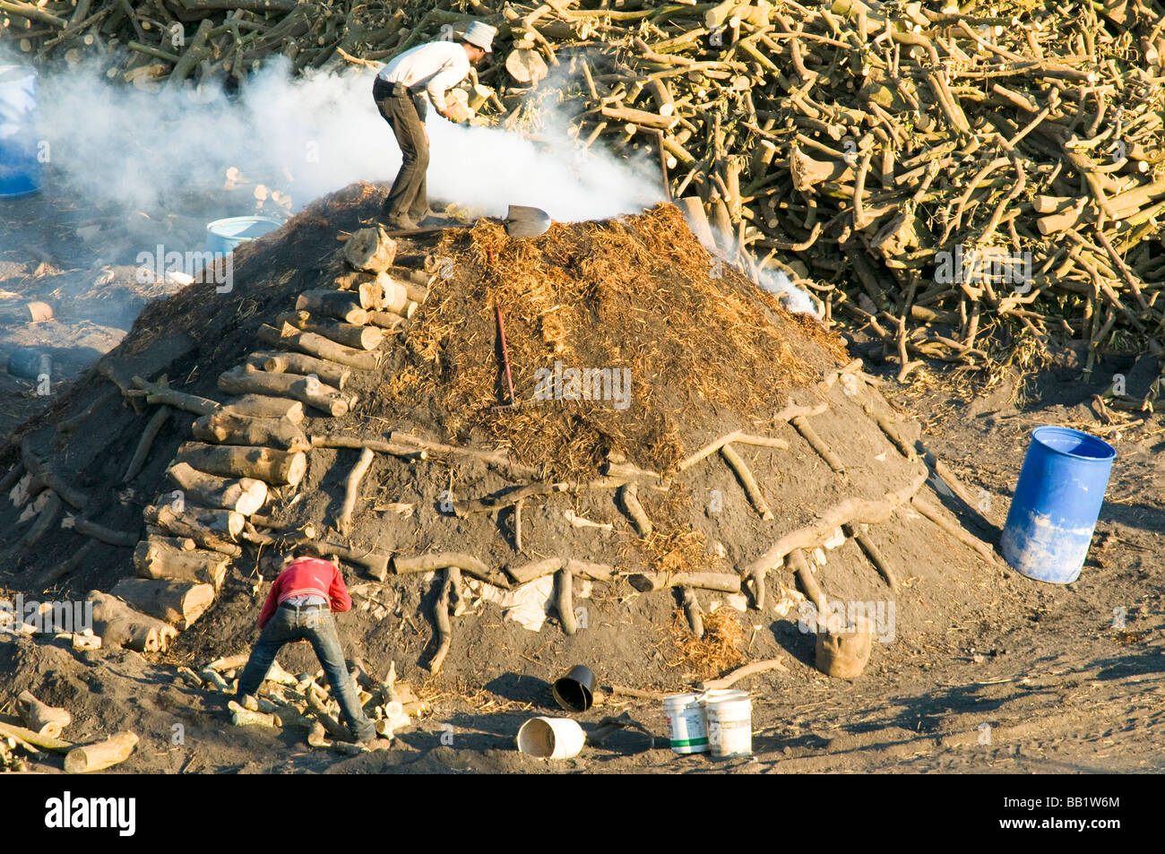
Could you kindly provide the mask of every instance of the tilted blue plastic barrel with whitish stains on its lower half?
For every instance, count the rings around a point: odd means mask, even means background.
[[[1031,431],[1000,543],[1017,572],[1052,584],[1080,577],[1115,458],[1111,445],[1079,430]]]

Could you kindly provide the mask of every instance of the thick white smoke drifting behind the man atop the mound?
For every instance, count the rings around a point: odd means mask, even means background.
[[[42,77],[41,134],[52,171],[64,176],[57,189],[89,199],[164,211],[186,193],[221,186],[236,167],[260,181],[289,182],[299,210],[352,182],[395,177],[401,155],[373,103],[374,76],[354,68],[292,78],[278,57],[228,98],[189,90],[156,96],[82,66]],[[528,204],[574,221],[637,212],[662,198],[658,178],[607,154],[580,156],[557,128],[535,142],[453,125],[433,110],[426,123],[431,199],[488,216]]]

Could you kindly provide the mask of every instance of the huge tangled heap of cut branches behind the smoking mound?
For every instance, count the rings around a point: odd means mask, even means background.
[[[565,86],[580,146],[658,162],[705,238],[804,280],[903,376],[913,355],[986,364],[1025,331],[1087,341],[1086,373],[1106,350],[1165,355],[1162,0],[3,0],[0,15],[35,56],[120,45],[129,68],[111,73],[155,84],[241,80],[273,54],[373,64],[485,20],[495,58],[469,108],[536,126],[527,96]],[[176,24],[197,27],[181,47]]]

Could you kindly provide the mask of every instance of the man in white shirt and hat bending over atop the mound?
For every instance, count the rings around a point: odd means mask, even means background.
[[[474,21],[457,42],[429,42],[405,50],[381,69],[372,96],[401,147],[401,171],[384,199],[382,221],[393,230],[418,227],[432,214],[425,191],[429,169],[429,133],[424,120],[426,98],[450,121],[458,118],[445,101],[445,92],[469,75],[493,50],[494,27]]]

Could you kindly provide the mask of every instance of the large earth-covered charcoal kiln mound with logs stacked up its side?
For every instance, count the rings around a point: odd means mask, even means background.
[[[997,606],[989,531],[918,425],[676,207],[394,242],[382,192],[150,304],[16,432],[5,586],[200,665],[254,642],[299,545],[344,569],[370,671],[502,694],[573,664],[670,691],[812,663],[806,598],[888,605],[875,661]]]

